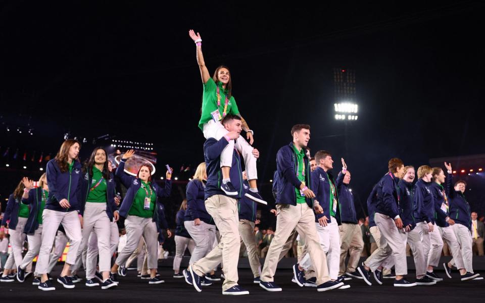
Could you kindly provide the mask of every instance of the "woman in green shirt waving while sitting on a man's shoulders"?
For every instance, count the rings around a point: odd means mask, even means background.
[[[206,139],[215,138],[216,140],[220,140],[225,137],[229,142],[221,153],[221,190],[227,195],[237,195],[237,191],[234,189],[229,177],[229,171],[232,165],[232,153],[235,147],[243,155],[246,172],[248,174],[250,190],[245,195],[256,202],[266,204],[258,192],[256,182],[258,179],[258,169],[256,168],[257,159],[253,155],[254,148],[251,146],[254,142],[254,132],[249,128],[246,120],[239,114],[236,100],[232,96],[232,80],[229,69],[225,66],[219,66],[211,78],[204,61],[204,56],[202,55],[201,35],[199,33],[196,34],[192,29],[189,30],[188,34],[196,43],[197,63],[199,64],[202,82],[204,83],[199,128],[204,133]],[[246,137],[250,140],[249,143],[241,136],[235,140],[230,140],[226,136],[228,131],[220,121],[227,114],[241,117],[241,127],[246,131]]]

